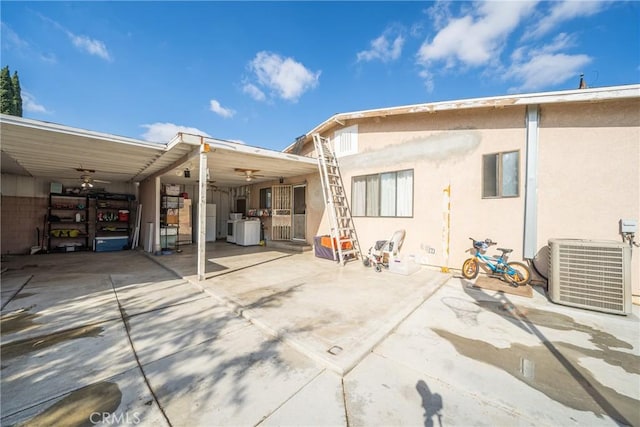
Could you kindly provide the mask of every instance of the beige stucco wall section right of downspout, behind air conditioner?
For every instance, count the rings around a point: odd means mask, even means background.
[[[621,242],[618,221],[640,220],[639,126],[639,101],[542,109],[540,247],[550,238]],[[640,297],[640,248],[633,249],[631,272],[632,293]]]

